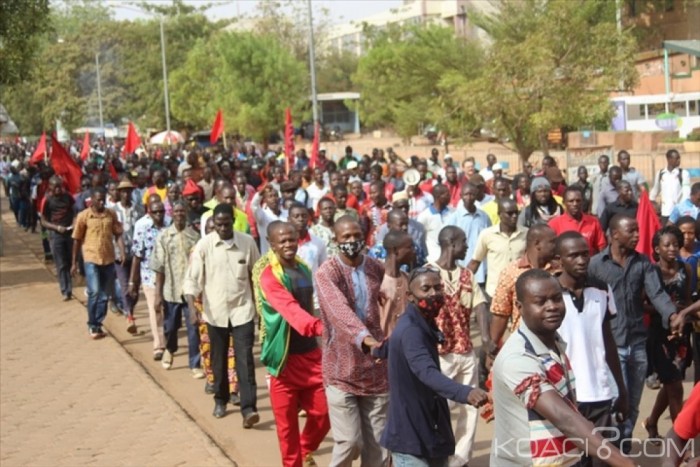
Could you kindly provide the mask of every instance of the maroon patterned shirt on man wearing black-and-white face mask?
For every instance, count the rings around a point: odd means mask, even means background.
[[[357,396],[386,394],[386,361],[375,362],[362,351],[368,335],[384,339],[379,312],[379,290],[384,266],[372,258],[364,258],[364,319],[355,311],[352,268],[340,264],[338,256],[329,258],[316,274],[318,299],[323,321],[323,381],[341,391]]]

